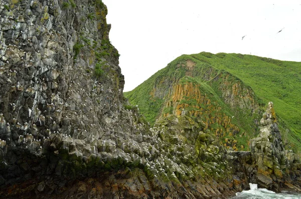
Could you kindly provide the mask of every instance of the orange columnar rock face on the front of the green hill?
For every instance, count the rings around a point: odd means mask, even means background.
[[[222,111],[222,107],[212,101],[207,93],[202,92],[200,84],[196,82],[178,83],[171,93],[171,100],[166,102],[165,108],[173,107],[173,114],[201,117],[205,123],[205,130],[210,129],[219,137],[239,132],[239,128],[231,123],[231,118]],[[163,114],[163,116],[167,115],[169,113]],[[230,144],[227,146],[238,150],[235,146],[236,142],[229,141]]]

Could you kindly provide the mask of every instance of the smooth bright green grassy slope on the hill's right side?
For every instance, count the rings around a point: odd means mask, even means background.
[[[301,63],[242,54],[193,54],[194,58],[224,69],[252,87],[265,103],[273,101],[279,122],[301,138]],[[301,144],[291,139],[294,145]]]

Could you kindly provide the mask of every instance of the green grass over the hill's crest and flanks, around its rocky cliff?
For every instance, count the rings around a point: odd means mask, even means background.
[[[246,85],[250,86],[256,96],[265,104],[273,101],[278,121],[285,128],[290,129],[288,139],[295,148],[301,148],[297,139],[301,138],[301,63],[293,61],[280,61],[265,57],[242,54],[212,54],[201,52],[192,55],[182,55],[168,64],[167,67],[159,70],[152,77],[145,80],[125,96],[132,104],[138,104],[140,110],[145,114],[146,119],[154,123],[161,115],[164,99],[149,95],[152,92],[156,79],[165,77],[167,79],[180,79],[185,71],[177,68],[176,65],[182,60],[191,59],[200,65],[200,70],[205,70],[204,65],[211,65],[219,72],[227,71],[238,77]],[[205,69],[204,69],[205,68]],[[200,72],[202,73],[202,72]],[[204,71],[203,71],[204,73]],[[198,72],[193,74],[199,82],[203,80]],[[212,89],[208,84],[203,84]],[[214,90],[211,90],[214,91]],[[215,90],[215,92],[217,92]],[[241,120],[241,121],[240,121]],[[243,119],[237,123],[243,124]],[[243,125],[242,125],[243,126]],[[282,129],[282,133],[286,130]]]

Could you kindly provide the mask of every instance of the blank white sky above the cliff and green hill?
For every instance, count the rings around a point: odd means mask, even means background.
[[[301,61],[301,0],[102,1],[124,91],[181,54],[235,52]]]

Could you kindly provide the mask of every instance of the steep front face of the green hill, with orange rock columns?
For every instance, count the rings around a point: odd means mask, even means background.
[[[255,135],[261,111],[250,87],[228,72],[200,63],[193,55],[178,57],[127,97],[139,104],[150,121],[170,114],[201,117],[205,129],[234,150],[248,149],[247,141]]]

